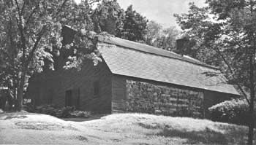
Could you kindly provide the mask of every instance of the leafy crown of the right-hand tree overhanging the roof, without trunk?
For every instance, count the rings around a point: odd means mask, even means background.
[[[192,49],[196,51],[198,60],[219,66],[231,84],[241,85],[248,90],[249,71],[244,70],[249,70],[249,55],[252,54],[249,49],[254,41],[248,33],[255,28],[246,19],[254,18],[246,16],[244,11],[248,9],[244,7],[241,12],[236,11],[238,8],[230,10],[227,13],[229,17],[223,19],[217,13],[219,10],[215,12],[214,1],[208,2],[211,3],[210,7],[203,8],[191,3],[189,14],[175,15],[177,22],[189,39],[196,42]],[[248,26],[252,28],[247,29]]]

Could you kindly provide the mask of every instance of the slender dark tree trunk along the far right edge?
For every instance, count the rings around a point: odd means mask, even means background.
[[[253,51],[254,52],[254,51]],[[250,75],[250,103],[249,103],[249,133],[248,133],[248,145],[253,144],[253,130],[255,128],[254,117],[254,100],[255,100],[255,85],[254,85],[254,54],[252,53],[249,60],[249,75]]]

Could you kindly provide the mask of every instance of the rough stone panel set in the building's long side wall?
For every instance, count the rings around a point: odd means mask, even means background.
[[[203,118],[203,92],[127,79],[127,111]]]

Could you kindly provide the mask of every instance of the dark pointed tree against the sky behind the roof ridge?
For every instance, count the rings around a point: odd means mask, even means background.
[[[148,22],[146,17],[133,10],[132,5],[124,13],[124,26],[118,29],[116,36],[133,42],[143,41]]]

